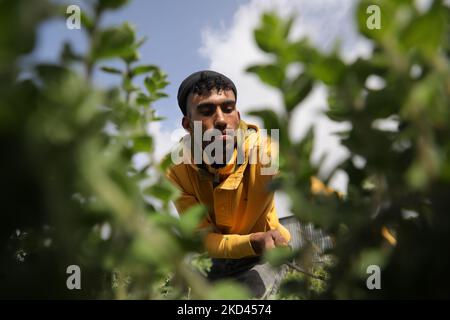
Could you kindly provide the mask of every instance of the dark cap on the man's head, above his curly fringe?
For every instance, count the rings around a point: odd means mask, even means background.
[[[237,99],[236,86],[228,77],[219,72],[211,70],[197,71],[184,79],[180,87],[178,88],[178,105],[180,106],[180,109],[184,115],[186,115],[187,97],[189,96],[189,94],[191,92],[194,92],[195,86],[198,82],[208,82],[209,80],[211,80],[212,82],[210,82],[206,87],[207,90],[210,91],[214,88],[219,90],[231,89],[233,90],[234,96]]]

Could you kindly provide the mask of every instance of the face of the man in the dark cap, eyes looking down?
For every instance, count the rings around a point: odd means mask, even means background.
[[[217,129],[222,133],[219,139],[225,142],[228,138],[225,130],[238,129],[240,119],[233,90],[214,89],[206,95],[189,94],[183,127],[192,134],[194,121],[201,121],[202,133],[209,129]],[[212,141],[204,141],[203,148]]]

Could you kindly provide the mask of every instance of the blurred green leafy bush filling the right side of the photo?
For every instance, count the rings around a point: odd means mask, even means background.
[[[381,9],[381,29],[366,27],[371,4]],[[307,39],[291,40],[294,18],[267,13],[255,30],[259,48],[273,62],[248,71],[280,90],[284,101],[279,114],[271,109],[251,112],[266,128],[281,131],[282,173],[272,188],[287,193],[300,221],[313,222],[336,243],[327,289],[312,297],[450,296],[449,14],[442,1],[433,1],[424,12],[411,1],[360,1],[359,30],[374,49],[370,58],[351,63],[338,50],[323,53]],[[298,63],[303,71],[290,77],[288,67]],[[384,86],[368,87],[372,76]],[[311,190],[311,177],[321,165],[310,161],[314,132],[298,142],[288,135],[288,128],[297,125],[291,121],[293,111],[319,84],[327,88],[326,115],[350,124],[339,133],[350,156],[322,177],[328,182],[336,170],[344,170],[346,195]],[[398,128],[378,126],[383,119]],[[366,287],[369,265],[382,270],[381,290]],[[292,292],[292,281],[289,288]],[[297,289],[299,297],[311,297],[302,281]]]

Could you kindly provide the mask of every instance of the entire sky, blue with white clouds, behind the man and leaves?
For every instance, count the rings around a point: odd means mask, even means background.
[[[77,4],[86,10],[88,2],[68,0],[65,3]],[[354,8],[355,0],[134,0],[119,11],[108,12],[101,25],[118,25],[125,21],[133,24],[138,37],[148,38],[140,49],[141,63],[156,64],[169,76],[171,84],[166,90],[169,98],[154,105],[158,115],[166,120],[149,124],[149,131],[155,138],[155,156],[161,158],[184,134],[180,129],[182,117],[176,93],[181,81],[194,71],[212,69],[230,77],[238,90],[238,110],[248,122],[261,125],[258,119],[245,115],[249,110],[280,111],[283,108],[279,91],[245,72],[249,65],[270,60],[253,39],[253,31],[264,12],[276,11],[285,17],[295,13],[297,19],[291,36],[307,37],[324,51],[330,50],[339,39],[341,55],[346,61],[352,61],[371,54],[371,44],[356,30]],[[70,41],[76,51],[86,50],[84,32],[69,30],[63,20],[47,22],[39,29],[38,36],[38,47],[32,57],[39,61],[55,61],[64,40]],[[105,61],[102,65],[120,66],[117,61]],[[295,70],[291,71],[298,72]],[[118,81],[114,75],[102,72],[95,75],[98,86],[107,87]],[[342,131],[345,124],[334,123],[324,116],[326,101],[326,89],[316,86],[295,109],[293,125],[288,128],[292,139],[298,140],[310,126],[314,127],[316,140],[312,161],[325,157],[322,177],[348,157],[348,151],[334,135]],[[336,173],[330,185],[345,192],[345,173]],[[287,200],[278,201],[278,206],[280,203],[280,212],[287,212]]]

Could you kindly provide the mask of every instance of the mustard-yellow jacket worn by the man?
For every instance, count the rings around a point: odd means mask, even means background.
[[[255,232],[277,229],[287,241],[291,238],[278,221],[274,193],[267,189],[275,173],[261,174],[265,166],[260,161],[249,161],[249,154],[257,154],[262,144],[270,154],[270,143],[262,142],[257,126],[243,121],[241,125],[246,129],[244,162],[215,188],[214,174],[195,164],[173,165],[167,172],[168,179],[181,190],[175,201],[179,214],[199,203],[208,209],[199,228],[210,228],[204,244],[212,258],[255,256],[250,244],[250,235]]]

